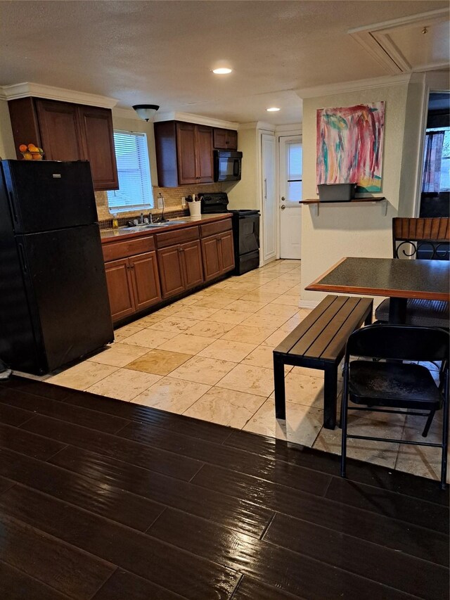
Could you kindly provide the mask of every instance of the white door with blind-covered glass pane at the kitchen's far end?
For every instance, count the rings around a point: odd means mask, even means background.
[[[280,138],[280,258],[302,257],[302,136]]]

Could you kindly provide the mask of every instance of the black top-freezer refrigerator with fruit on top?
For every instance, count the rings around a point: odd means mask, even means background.
[[[0,359],[46,374],[114,339],[91,167],[0,167]]]

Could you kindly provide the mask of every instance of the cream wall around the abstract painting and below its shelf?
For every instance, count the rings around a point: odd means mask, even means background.
[[[383,156],[384,203],[328,204],[302,208],[302,288],[345,256],[391,257],[392,217],[413,216],[413,182],[420,146],[420,94],[423,82],[407,82],[341,92],[303,101],[303,198],[316,198],[316,110],[385,101]],[[406,143],[406,149],[404,149]],[[302,290],[301,305],[311,306],[323,293]]]

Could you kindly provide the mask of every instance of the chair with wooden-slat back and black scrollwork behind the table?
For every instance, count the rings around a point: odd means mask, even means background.
[[[394,258],[449,260],[450,219],[448,217],[392,219]],[[390,300],[383,300],[375,310],[375,319],[389,320]],[[409,298],[406,303],[406,325],[450,327],[449,302]]]

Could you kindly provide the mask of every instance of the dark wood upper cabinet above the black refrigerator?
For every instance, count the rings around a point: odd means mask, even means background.
[[[94,189],[118,189],[109,108],[43,98],[10,100],[8,107],[17,158],[21,143],[34,143],[47,160],[89,160]]]

